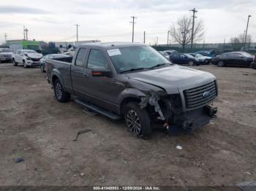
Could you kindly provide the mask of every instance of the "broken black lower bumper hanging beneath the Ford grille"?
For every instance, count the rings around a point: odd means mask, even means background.
[[[187,131],[192,131],[195,128],[202,128],[207,125],[212,117],[217,114],[217,107],[203,106],[200,109],[195,109],[184,114],[176,115],[173,122],[169,122],[168,131],[173,133],[173,128],[180,128]]]

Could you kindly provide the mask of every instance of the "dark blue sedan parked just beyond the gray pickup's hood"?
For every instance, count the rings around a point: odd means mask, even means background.
[[[200,65],[200,61],[192,55],[177,52],[170,55],[170,61],[177,64],[188,64],[189,66]]]

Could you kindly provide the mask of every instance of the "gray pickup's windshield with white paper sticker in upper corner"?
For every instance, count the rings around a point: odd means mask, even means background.
[[[107,52],[118,73],[132,69],[150,69],[165,63],[171,64],[157,50],[148,46],[121,47]]]

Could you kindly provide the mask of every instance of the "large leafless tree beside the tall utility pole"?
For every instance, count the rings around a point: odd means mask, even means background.
[[[195,23],[193,42],[203,39],[203,34],[203,21],[199,20]],[[186,44],[189,44],[192,40],[192,18],[187,16],[179,18],[177,23],[170,27],[170,36],[175,42],[181,44],[184,51]]]

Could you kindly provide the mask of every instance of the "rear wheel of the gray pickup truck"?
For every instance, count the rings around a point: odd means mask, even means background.
[[[59,79],[53,82],[54,95],[57,101],[67,102],[70,99],[70,94],[64,91],[64,87],[61,85]]]

